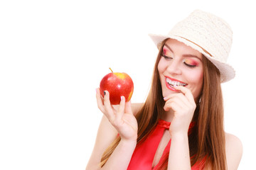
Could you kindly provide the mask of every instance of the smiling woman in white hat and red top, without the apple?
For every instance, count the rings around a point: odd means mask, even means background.
[[[97,104],[105,115],[87,169],[237,169],[242,144],[223,130],[220,84],[235,77],[226,63],[232,30],[196,10],[168,35],[150,35],[159,47],[145,103]]]

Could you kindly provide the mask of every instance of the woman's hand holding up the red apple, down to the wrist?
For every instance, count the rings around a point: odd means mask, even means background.
[[[96,98],[98,108],[117,130],[121,139],[136,141],[138,125],[132,113],[131,101],[125,103],[125,98],[122,96],[119,108],[114,109],[110,104],[110,93],[108,91],[105,91],[105,96],[102,98],[100,89],[97,89]]]

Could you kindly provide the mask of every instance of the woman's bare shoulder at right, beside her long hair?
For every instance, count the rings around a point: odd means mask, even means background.
[[[242,158],[242,142],[230,133],[225,133],[225,150],[228,163],[228,169],[238,169]]]

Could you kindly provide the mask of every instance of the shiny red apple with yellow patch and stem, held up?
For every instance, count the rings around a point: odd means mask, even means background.
[[[117,105],[121,101],[121,96],[125,97],[125,101],[132,98],[134,84],[128,74],[122,72],[112,72],[105,75],[100,81],[100,94],[104,96],[104,91],[110,93],[110,103]]]

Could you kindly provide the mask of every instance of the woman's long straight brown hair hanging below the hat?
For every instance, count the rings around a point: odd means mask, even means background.
[[[166,40],[162,42],[156,58],[149,95],[136,115],[138,122],[138,145],[155,128],[159,118],[164,114],[164,100],[161,94],[158,64],[165,42]],[[211,169],[226,169],[223,96],[220,83],[220,72],[214,64],[206,59],[206,57],[203,57],[201,100],[197,103],[196,111],[193,115],[193,122],[196,125],[188,136],[191,166],[196,164],[196,162],[205,162],[206,166]],[[119,141],[120,137],[117,137],[103,153],[100,162],[101,166],[107,162]],[[167,169],[169,154],[164,157],[164,162],[161,162],[159,169]]]

